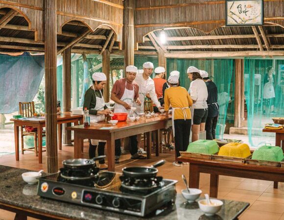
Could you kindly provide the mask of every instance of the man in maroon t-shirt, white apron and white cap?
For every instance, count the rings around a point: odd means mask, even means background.
[[[112,89],[111,99],[115,102],[115,113],[120,112],[129,112],[130,108],[133,106],[133,103],[136,103],[137,106],[141,105],[139,99],[139,87],[137,83],[134,82],[134,79],[137,74],[136,66],[127,66],[126,67],[126,77],[119,79],[115,82]],[[138,142],[137,135],[130,136],[130,154],[132,159],[145,159],[146,157],[137,153],[138,151]],[[117,139],[115,141],[116,150],[115,150],[115,159],[116,163],[119,163],[119,157],[121,154],[121,141]]]

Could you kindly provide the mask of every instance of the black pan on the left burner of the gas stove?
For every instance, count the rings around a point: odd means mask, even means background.
[[[102,160],[106,156],[97,156],[93,159],[68,159],[63,160],[62,164],[64,168],[68,169],[88,169],[88,168],[94,168],[95,167],[95,161],[96,160]]]

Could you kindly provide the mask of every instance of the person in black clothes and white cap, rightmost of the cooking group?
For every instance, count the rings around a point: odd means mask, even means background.
[[[212,80],[210,80],[208,72],[200,70],[200,76],[203,78],[208,91],[208,115],[205,123],[206,139],[213,140],[216,138],[215,129],[219,115],[219,106],[217,103],[218,89]]]

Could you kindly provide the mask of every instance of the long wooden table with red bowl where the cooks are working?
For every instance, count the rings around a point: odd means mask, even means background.
[[[84,128],[84,125],[78,125],[66,128],[74,131],[74,158],[81,158],[84,139],[99,139],[107,141],[108,170],[115,171],[115,140],[123,137],[129,137],[135,134],[147,133],[147,158],[151,158],[151,133],[152,131],[165,129],[171,126],[171,117],[159,115],[158,117],[141,117],[139,121],[118,122],[117,125],[99,122]],[[109,130],[102,130],[103,127],[112,127]],[[159,154],[159,139],[157,135],[156,154]]]

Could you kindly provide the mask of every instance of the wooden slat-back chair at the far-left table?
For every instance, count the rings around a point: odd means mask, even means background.
[[[35,113],[34,102],[19,102],[19,114],[22,114],[24,117],[32,117],[34,113]],[[24,148],[24,136],[34,137],[34,148]],[[44,136],[46,136],[45,132],[43,132],[43,137]],[[37,131],[28,132],[25,126],[22,126],[21,127],[21,147],[22,147],[22,154],[24,154],[24,151],[34,151],[36,156],[38,156]]]

